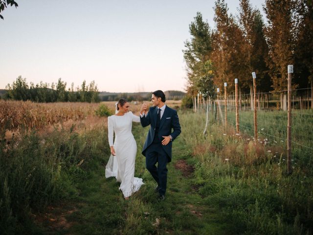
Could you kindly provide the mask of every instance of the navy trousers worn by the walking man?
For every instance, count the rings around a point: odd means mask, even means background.
[[[156,167],[157,163],[157,167]],[[146,167],[158,185],[160,195],[165,195],[168,156],[161,143],[152,143],[146,151]]]

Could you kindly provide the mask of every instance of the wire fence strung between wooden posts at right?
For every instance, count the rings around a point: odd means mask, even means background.
[[[294,89],[294,90],[304,90],[304,89]],[[246,94],[245,94],[246,95]],[[249,94],[250,95],[250,94]],[[221,95],[222,96],[222,95]],[[241,95],[242,96],[242,95]],[[238,95],[238,97],[241,97]],[[227,96],[227,102],[225,105],[224,99],[208,101],[209,112],[211,118],[214,121],[219,121],[221,124],[225,125],[225,120],[227,120],[227,125],[236,128],[236,102],[235,95]],[[221,97],[220,97],[221,98]],[[228,99],[229,98],[229,99]],[[308,97],[306,100],[306,105],[299,103],[297,105],[291,105],[294,107],[291,112],[292,125],[292,158],[301,159],[304,162],[312,163],[313,157],[313,109],[311,109],[312,100]],[[239,132],[241,135],[245,133],[246,138],[254,140],[254,112],[253,103],[250,101],[251,97],[246,98],[246,107],[243,100],[239,102]],[[278,105],[262,105],[263,103],[278,103]],[[295,102],[295,101],[293,101]],[[299,101],[297,102],[304,102]],[[279,146],[284,149],[283,155],[287,155],[287,124],[288,124],[288,112],[280,109],[281,100],[280,99],[270,99],[259,100],[257,102],[257,133],[258,140],[263,144],[268,144],[271,146]],[[203,99],[199,99],[197,112],[205,112],[206,102]],[[225,109],[226,106],[226,109]],[[252,106],[252,108],[251,108]],[[263,107],[261,107],[263,106]],[[306,107],[306,109],[300,109]],[[225,115],[227,116],[225,119]],[[265,141],[266,140],[266,141]]]

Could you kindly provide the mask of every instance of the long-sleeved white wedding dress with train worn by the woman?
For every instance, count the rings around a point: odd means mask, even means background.
[[[106,165],[106,178],[114,176],[121,183],[119,189],[124,197],[131,196],[144,184],[141,178],[134,177],[137,144],[132,134],[133,121],[140,122],[140,118],[132,112],[108,117],[109,144],[114,146],[115,156],[111,155]]]

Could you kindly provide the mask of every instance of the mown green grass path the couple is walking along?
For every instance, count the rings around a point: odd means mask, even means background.
[[[157,201],[156,186],[145,169],[140,151],[147,128],[134,125],[137,159],[135,176],[145,185],[129,201],[123,200],[115,178],[105,178],[105,164],[91,162],[88,174],[78,183],[79,196],[64,205],[49,207],[40,224],[44,234],[231,234],[219,211],[208,207],[193,187],[193,176],[184,176],[177,168],[195,164],[181,138],[173,143],[173,161],[168,164],[166,199]],[[181,160],[184,160],[182,162]],[[179,163],[179,164],[178,164]],[[176,167],[175,167],[176,166]]]

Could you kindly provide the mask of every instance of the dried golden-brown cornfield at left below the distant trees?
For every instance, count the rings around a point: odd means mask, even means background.
[[[0,101],[0,130],[3,133],[21,128],[41,129],[70,119],[81,120],[94,115],[98,106],[99,104],[89,103]]]

